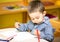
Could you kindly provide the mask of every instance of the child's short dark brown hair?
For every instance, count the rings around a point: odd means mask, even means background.
[[[29,3],[29,6],[28,6],[29,13],[32,13],[35,11],[43,12],[44,10],[45,10],[44,5],[39,0],[34,0]]]

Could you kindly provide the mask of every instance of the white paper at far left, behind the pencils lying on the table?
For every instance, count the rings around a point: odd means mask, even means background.
[[[9,37],[12,37],[13,35],[16,35],[18,32],[16,29],[2,29],[0,30],[0,39],[7,39]]]

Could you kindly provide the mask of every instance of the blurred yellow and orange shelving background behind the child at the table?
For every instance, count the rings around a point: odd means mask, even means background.
[[[27,7],[33,0],[0,0],[0,29],[12,28],[15,22],[26,23]],[[46,16],[55,28],[54,42],[60,42],[60,0],[40,0],[45,5]]]

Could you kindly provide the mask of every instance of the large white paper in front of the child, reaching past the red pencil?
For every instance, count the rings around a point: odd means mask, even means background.
[[[20,32],[10,42],[38,42],[36,36],[29,32]],[[40,39],[40,42],[47,42],[46,40]]]

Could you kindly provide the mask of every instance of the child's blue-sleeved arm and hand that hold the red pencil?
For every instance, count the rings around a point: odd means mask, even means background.
[[[32,34],[37,36],[37,31],[33,30]],[[53,40],[53,28],[50,25],[48,25],[45,28],[45,32],[38,30],[38,35],[40,35],[41,39],[45,39],[46,41],[52,41]]]

